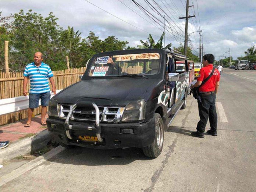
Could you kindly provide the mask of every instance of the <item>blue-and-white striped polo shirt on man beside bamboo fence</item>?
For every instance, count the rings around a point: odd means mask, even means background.
[[[48,78],[53,77],[53,72],[49,65],[42,62],[40,66],[36,67],[34,62],[30,63],[26,65],[23,75],[30,79],[29,93],[36,94],[51,91]]]

